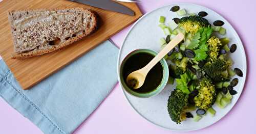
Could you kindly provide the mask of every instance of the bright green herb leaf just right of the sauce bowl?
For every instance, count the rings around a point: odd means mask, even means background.
[[[189,77],[186,73],[180,75],[180,78],[176,78],[176,83],[177,83],[176,88],[180,89],[185,94],[189,94],[190,92],[187,87],[188,81],[189,81]]]

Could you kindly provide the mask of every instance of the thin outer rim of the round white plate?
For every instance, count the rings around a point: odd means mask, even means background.
[[[206,126],[203,126],[203,127],[198,127],[198,128],[195,128],[195,129],[189,129],[189,130],[170,129],[170,128],[161,126],[161,125],[159,125],[159,124],[156,124],[156,123],[152,122],[151,120],[148,120],[148,119],[147,119],[146,117],[144,117],[142,114],[140,114],[140,112],[138,112],[138,111],[134,108],[133,104],[132,104],[132,103],[129,101],[129,99],[127,98],[127,95],[126,95],[126,93],[125,93],[125,91],[124,91],[122,85],[120,84],[120,75],[119,75],[119,70],[120,70],[120,66],[119,66],[119,64],[120,64],[120,53],[121,53],[122,47],[123,47],[123,45],[124,45],[124,42],[125,42],[126,39],[127,39],[127,36],[131,33],[131,31],[133,30],[134,26],[135,26],[141,19],[143,19],[143,18],[146,17],[148,14],[151,14],[152,12],[154,12],[154,11],[156,11],[156,10],[159,10],[159,9],[165,8],[165,7],[169,7],[169,6],[172,6],[172,5],[179,5],[179,4],[185,4],[185,5],[186,5],[186,4],[189,4],[189,5],[194,5],[194,6],[199,6],[199,7],[206,8],[206,9],[208,9],[209,11],[216,13],[217,15],[219,15],[220,17],[222,17],[224,20],[226,20],[226,22],[231,26],[231,30],[233,30],[234,36],[238,39],[238,43],[240,43],[241,46],[242,46],[242,52],[244,53],[243,57],[245,58],[245,63],[246,63],[246,64],[245,64],[245,70],[244,70],[245,73],[244,73],[244,76],[243,76],[243,77],[245,77],[245,79],[244,79],[244,81],[243,81],[243,83],[242,83],[242,90],[241,90],[240,93],[237,94],[237,95],[238,95],[238,98],[237,98],[237,100],[235,100],[235,102],[234,102],[234,104],[231,106],[230,110],[227,111],[227,113],[225,113],[224,115],[222,115],[222,117],[221,117],[220,119],[216,120],[214,123],[211,123],[211,124],[206,125]],[[234,29],[234,27],[232,26],[232,24],[230,24],[229,21],[228,21],[225,17],[223,17],[222,15],[220,15],[220,14],[219,14],[218,12],[216,12],[215,10],[212,10],[212,9],[210,9],[210,8],[208,8],[208,7],[205,7],[205,6],[203,6],[203,5],[200,5],[200,4],[184,3],[184,2],[175,2],[175,3],[172,3],[172,4],[167,4],[167,5],[163,5],[163,6],[161,6],[161,7],[155,8],[155,9],[151,10],[150,12],[147,12],[147,13],[143,14],[143,16],[141,16],[136,22],[134,22],[134,24],[131,26],[131,28],[129,29],[129,31],[126,33],[125,38],[124,38],[124,40],[123,40],[123,42],[122,42],[122,45],[120,46],[119,51],[118,51],[118,58],[117,58],[117,75],[118,75],[118,85],[121,87],[121,90],[122,90],[122,92],[123,92],[123,95],[125,96],[125,100],[132,106],[133,110],[134,110],[137,114],[139,114],[142,118],[144,118],[144,119],[147,120],[148,122],[151,122],[152,124],[154,124],[154,125],[156,125],[156,126],[158,126],[158,127],[161,127],[161,128],[164,128],[164,129],[170,130],[170,131],[175,131],[175,132],[195,131],[195,130],[200,130],[200,129],[209,127],[209,126],[211,126],[211,125],[213,125],[213,124],[219,122],[221,119],[223,119],[223,118],[233,109],[234,105],[237,104],[238,100],[239,100],[240,97],[241,97],[241,94],[242,94],[243,91],[244,91],[244,87],[245,87],[245,83],[246,83],[246,79],[247,79],[247,55],[246,55],[245,48],[244,48],[243,42],[242,42],[242,40],[241,40],[239,34],[238,34],[237,31]],[[146,98],[143,98],[143,99],[146,99]]]

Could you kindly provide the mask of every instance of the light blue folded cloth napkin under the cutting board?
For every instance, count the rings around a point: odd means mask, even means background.
[[[105,41],[30,90],[0,60],[0,95],[44,133],[72,133],[117,83],[117,55]]]

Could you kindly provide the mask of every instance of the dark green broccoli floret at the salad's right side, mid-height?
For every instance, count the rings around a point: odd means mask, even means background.
[[[210,77],[214,82],[225,82],[229,81],[229,75],[227,69],[229,69],[231,63],[225,61],[224,59],[217,59],[213,62],[207,62],[202,67],[205,73]]]

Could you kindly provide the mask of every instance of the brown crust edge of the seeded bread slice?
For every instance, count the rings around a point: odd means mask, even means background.
[[[71,37],[70,39],[61,42],[58,45],[53,45],[53,47],[48,48],[48,49],[35,49],[35,50],[31,50],[28,52],[22,52],[22,53],[18,53],[18,52],[14,52],[12,53],[12,59],[26,59],[26,58],[30,58],[30,57],[35,57],[35,56],[40,56],[40,55],[44,55],[45,53],[49,53],[49,52],[53,52],[55,50],[60,50],[62,48],[65,48],[66,46],[74,43],[75,41],[78,41],[80,39],[82,39],[83,37],[89,36],[90,34],[92,34],[96,28],[97,28],[97,14],[95,11],[90,10],[90,9],[83,9],[83,8],[57,8],[57,9],[37,9],[37,10],[19,10],[19,11],[12,11],[9,13],[9,21],[12,21],[12,17],[10,17],[10,14],[13,12],[20,12],[20,11],[25,11],[25,12],[29,12],[29,11],[56,11],[56,10],[66,10],[66,9],[70,9],[70,10],[81,10],[82,12],[90,12],[90,17],[93,19],[92,26],[90,29],[86,29],[85,32],[82,32],[82,34],[77,35],[76,37]],[[13,27],[13,25],[11,25]],[[11,29],[13,32],[13,28]],[[15,42],[15,40],[13,40]]]

